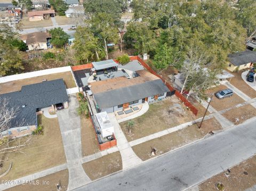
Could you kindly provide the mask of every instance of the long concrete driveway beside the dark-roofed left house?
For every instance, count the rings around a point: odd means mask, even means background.
[[[68,163],[68,190],[91,181],[82,167],[81,121],[76,111],[76,95],[69,95],[69,101],[68,109],[57,112]]]

